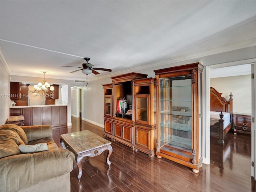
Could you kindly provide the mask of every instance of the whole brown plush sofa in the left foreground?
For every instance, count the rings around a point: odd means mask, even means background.
[[[40,143],[40,152],[21,148]],[[72,154],[54,143],[51,126],[0,126],[0,192],[70,192],[72,169]]]

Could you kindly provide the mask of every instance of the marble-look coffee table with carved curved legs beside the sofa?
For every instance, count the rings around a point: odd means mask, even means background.
[[[89,130],[61,134],[60,144],[62,148],[66,148],[74,153],[79,170],[77,177],[79,180],[82,176],[82,159],[84,157],[95,157],[104,150],[108,150],[106,162],[108,166],[111,164],[109,161],[109,157],[112,153],[111,142]]]

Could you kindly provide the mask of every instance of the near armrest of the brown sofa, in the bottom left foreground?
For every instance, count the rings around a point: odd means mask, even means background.
[[[19,191],[73,169],[71,152],[67,149],[34,154],[20,154],[0,159],[1,191]]]

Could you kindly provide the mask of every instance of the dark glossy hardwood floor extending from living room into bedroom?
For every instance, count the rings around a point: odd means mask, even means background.
[[[104,129],[72,117],[68,132],[90,130],[103,136]],[[54,129],[54,140],[59,144],[60,134],[67,129]],[[133,151],[112,141],[110,167],[106,164],[107,151],[99,156],[83,159],[82,178],[77,179],[74,162],[71,176],[72,192],[256,192],[251,169],[251,138],[248,134],[225,138],[225,147],[211,138],[210,165],[203,164],[198,174],[190,168],[170,160]],[[60,145],[59,145],[60,147]]]

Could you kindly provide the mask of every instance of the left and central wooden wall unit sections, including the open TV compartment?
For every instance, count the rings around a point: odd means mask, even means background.
[[[117,140],[134,148],[134,119],[133,119],[133,89],[135,79],[146,78],[148,75],[128,73],[112,77],[112,84],[103,85],[104,88],[104,136]],[[112,86],[112,89],[111,89]],[[111,91],[109,90],[111,89]],[[111,94],[110,94],[111,93]],[[118,112],[117,104],[120,98],[128,100],[128,112]],[[110,101],[110,113],[108,102]],[[112,102],[112,103],[111,103]]]

